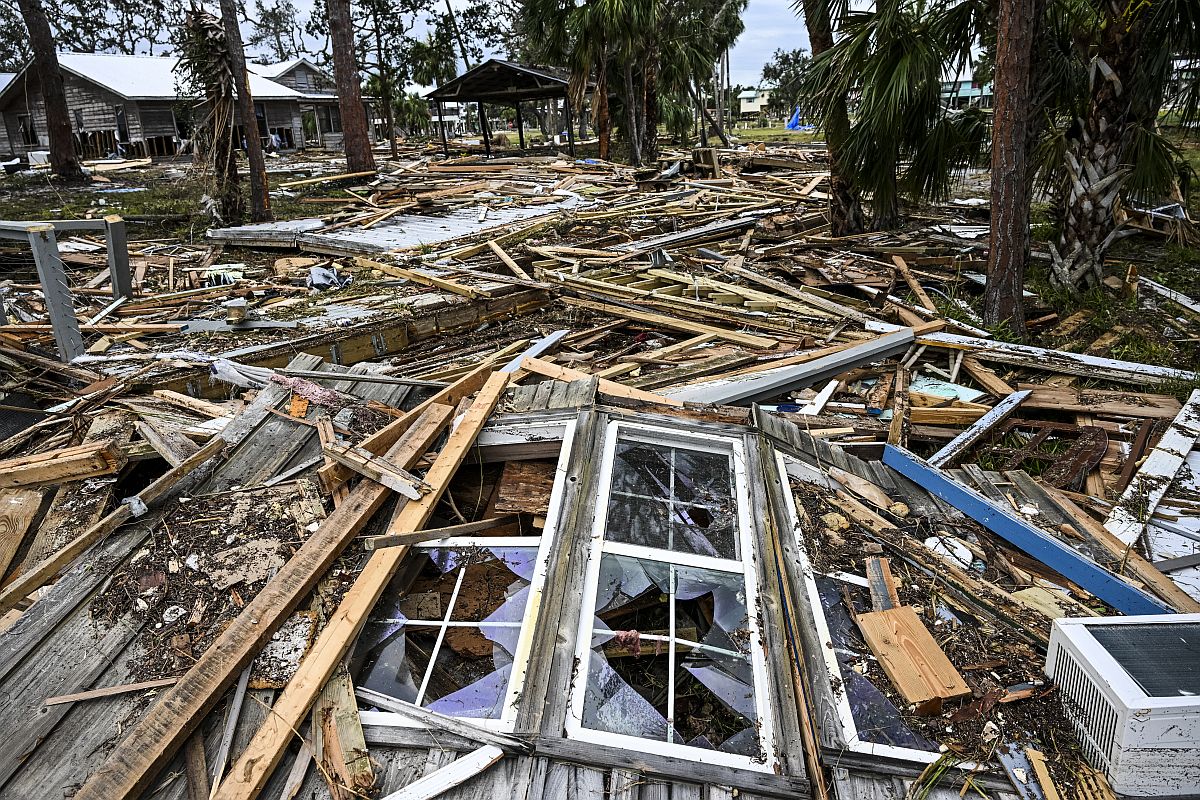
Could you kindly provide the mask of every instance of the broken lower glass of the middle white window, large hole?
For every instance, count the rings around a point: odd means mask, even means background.
[[[758,757],[749,645],[743,575],[607,554],[583,724]]]

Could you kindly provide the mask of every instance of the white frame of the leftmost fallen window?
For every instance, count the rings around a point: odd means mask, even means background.
[[[533,638],[538,627],[538,614],[541,607],[541,595],[546,584],[546,572],[550,566],[551,548],[557,539],[559,511],[563,505],[563,488],[566,485],[570,470],[571,443],[575,440],[576,421],[569,420],[563,432],[563,449],[558,456],[558,464],[554,468],[554,483],[550,495],[550,507],[546,510],[546,527],[540,536],[452,536],[450,539],[431,540],[414,546],[416,551],[446,549],[454,547],[536,547],[538,555],[534,566],[533,579],[529,582],[528,600],[526,602],[524,615],[521,618],[521,636],[517,638],[516,651],[512,654],[512,670],[509,675],[509,687],[505,692],[504,705],[499,718],[485,720],[480,717],[455,717],[462,722],[493,730],[496,733],[511,733],[516,727],[517,705],[524,690],[526,675],[529,672],[529,654],[533,649]],[[450,624],[455,625],[455,624]],[[472,622],[478,626],[478,622]],[[442,628],[443,631],[445,627]],[[440,639],[440,637],[439,637]],[[436,657],[436,654],[432,654]],[[416,720],[402,714],[391,711],[359,711],[359,721],[362,724],[390,726],[396,728],[421,728],[426,726]]]

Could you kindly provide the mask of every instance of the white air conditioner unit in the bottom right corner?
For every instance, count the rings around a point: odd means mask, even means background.
[[[1200,614],[1055,620],[1046,674],[1117,793],[1200,794]]]

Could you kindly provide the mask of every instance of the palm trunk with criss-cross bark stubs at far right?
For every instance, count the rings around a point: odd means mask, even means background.
[[[1062,230],[1050,255],[1054,282],[1070,289],[1099,285],[1104,254],[1122,234],[1115,210],[1128,176],[1121,162],[1133,101],[1123,85],[1133,77],[1140,38],[1136,22],[1109,17],[1092,70],[1087,118],[1067,143]]]

